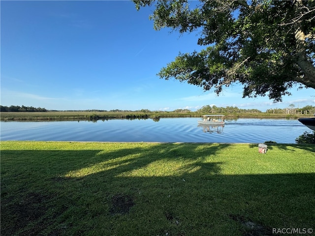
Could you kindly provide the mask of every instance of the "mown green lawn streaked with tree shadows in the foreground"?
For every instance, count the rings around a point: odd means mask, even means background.
[[[266,154],[257,144],[4,141],[0,149],[1,236],[315,231],[314,145],[268,144]]]

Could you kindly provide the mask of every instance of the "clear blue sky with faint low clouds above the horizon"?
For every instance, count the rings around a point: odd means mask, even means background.
[[[315,105],[315,89],[273,103],[156,75],[179,52],[199,51],[196,33],[155,31],[150,8],[131,1],[0,1],[1,105],[51,110],[195,111],[204,105],[266,111]]]

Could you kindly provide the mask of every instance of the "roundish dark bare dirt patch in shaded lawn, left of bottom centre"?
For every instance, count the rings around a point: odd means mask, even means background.
[[[109,212],[112,215],[128,213],[134,205],[132,197],[124,194],[117,194],[112,198],[112,207]]]

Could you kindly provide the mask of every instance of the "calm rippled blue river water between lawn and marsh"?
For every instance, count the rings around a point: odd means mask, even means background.
[[[0,138],[36,141],[295,143],[312,130],[296,119],[226,119],[224,127],[198,126],[200,118],[89,121],[1,121]]]

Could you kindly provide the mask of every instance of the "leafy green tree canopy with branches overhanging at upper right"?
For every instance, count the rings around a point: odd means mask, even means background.
[[[200,52],[179,54],[158,76],[214,89],[240,83],[243,97],[274,102],[292,86],[315,89],[314,0],[133,0],[155,5],[154,28],[197,31]]]

